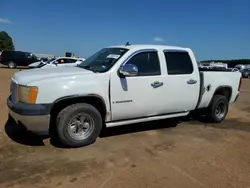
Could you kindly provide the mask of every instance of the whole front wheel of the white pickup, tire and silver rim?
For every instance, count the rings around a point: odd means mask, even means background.
[[[63,109],[56,119],[60,141],[69,147],[92,144],[102,129],[100,112],[86,103],[73,104]]]

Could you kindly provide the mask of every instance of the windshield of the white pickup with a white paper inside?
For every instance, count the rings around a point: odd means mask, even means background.
[[[93,72],[106,72],[128,51],[125,48],[103,48],[96,52],[78,67],[91,70]]]

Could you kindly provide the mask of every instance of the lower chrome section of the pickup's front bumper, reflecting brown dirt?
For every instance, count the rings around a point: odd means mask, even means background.
[[[13,112],[11,109],[9,109],[9,114],[17,124],[21,123],[28,131],[38,135],[49,134],[50,115],[24,116]]]

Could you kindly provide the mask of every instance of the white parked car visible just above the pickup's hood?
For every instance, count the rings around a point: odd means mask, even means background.
[[[58,57],[51,58],[48,61],[39,61],[29,65],[29,68],[51,68],[64,66],[77,66],[84,61],[83,58]]]

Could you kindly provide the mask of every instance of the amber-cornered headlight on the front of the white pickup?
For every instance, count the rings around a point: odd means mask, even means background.
[[[37,87],[18,86],[18,101],[29,104],[35,104],[37,93]]]

